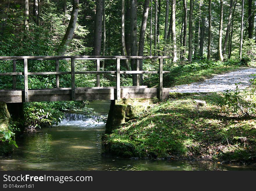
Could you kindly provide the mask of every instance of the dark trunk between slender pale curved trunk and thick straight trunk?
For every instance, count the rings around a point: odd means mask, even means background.
[[[130,0],[126,0],[126,14],[125,14],[125,47],[127,56],[131,55],[131,9],[130,9]]]

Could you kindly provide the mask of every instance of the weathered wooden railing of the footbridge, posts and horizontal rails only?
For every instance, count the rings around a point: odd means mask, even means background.
[[[16,90],[16,76],[24,75],[24,101],[29,101],[29,75],[49,75],[53,74],[56,78],[56,88],[59,88],[59,75],[71,74],[71,100],[76,100],[75,97],[75,74],[97,74],[97,87],[100,87],[100,74],[115,74],[116,75],[116,92],[115,99],[120,99],[120,74],[137,74],[136,85],[139,86],[140,74],[159,74],[159,91],[158,98],[163,98],[163,74],[170,73],[163,71],[163,59],[171,58],[170,56],[0,56],[0,60],[13,60],[13,72],[0,73],[0,76],[13,76],[13,90]],[[120,60],[136,59],[136,70],[121,71]],[[139,70],[140,59],[159,59],[158,71],[141,71]],[[24,72],[16,72],[16,61],[23,60]],[[56,72],[28,72],[28,60],[56,60]],[[59,60],[71,60],[71,71],[60,72]],[[75,60],[96,60],[96,71],[76,71]],[[100,60],[116,60],[115,71],[100,71]]]

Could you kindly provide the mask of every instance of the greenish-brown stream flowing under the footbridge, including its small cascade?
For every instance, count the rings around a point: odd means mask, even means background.
[[[88,107],[106,115],[108,101]],[[105,124],[97,116],[66,114],[60,126],[27,133],[17,141],[15,152],[0,158],[0,170],[256,170],[254,166],[229,166],[211,161],[138,160],[102,156]]]

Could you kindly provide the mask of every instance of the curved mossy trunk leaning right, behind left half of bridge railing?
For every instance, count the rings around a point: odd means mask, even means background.
[[[67,26],[67,31],[60,44],[60,49],[58,53],[59,56],[65,55],[67,51],[67,47],[73,39],[73,35],[74,35],[76,23],[77,23],[78,9],[79,9],[79,0],[73,0],[73,8],[72,8],[70,21]]]

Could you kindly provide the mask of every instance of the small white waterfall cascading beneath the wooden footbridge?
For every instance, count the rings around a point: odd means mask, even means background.
[[[65,119],[62,120],[61,125],[64,126],[80,126],[90,127],[97,125],[104,125],[107,115],[84,115],[77,113],[65,113]]]

